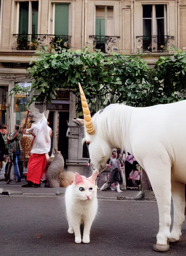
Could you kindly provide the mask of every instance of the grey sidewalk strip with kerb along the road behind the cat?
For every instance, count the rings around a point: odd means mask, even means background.
[[[65,188],[45,188],[44,183],[41,183],[40,188],[22,188],[21,185],[25,184],[26,181],[22,179],[20,183],[12,181],[10,184],[6,184],[5,181],[0,181],[0,190],[3,189],[3,195],[9,196],[64,196]],[[126,190],[122,193],[116,191],[98,191],[98,199],[107,200],[136,200],[138,190]],[[2,192],[0,191],[0,194]],[[142,198],[139,198],[143,200]],[[153,197],[151,198],[153,200]],[[145,200],[151,200],[145,199]]]

